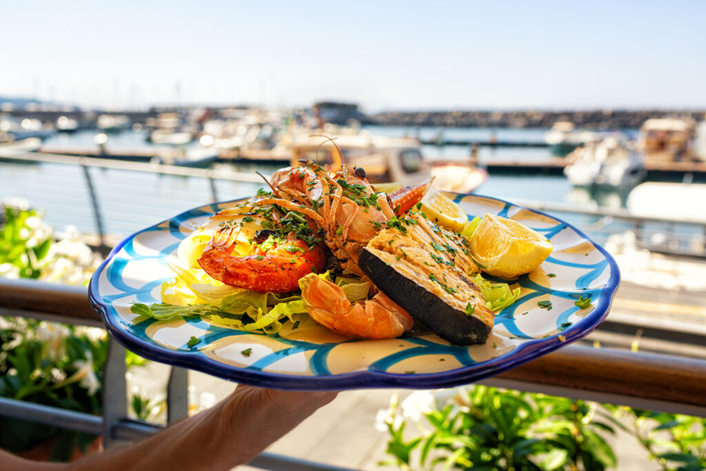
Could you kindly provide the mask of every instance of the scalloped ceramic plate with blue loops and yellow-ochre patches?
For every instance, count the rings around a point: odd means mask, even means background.
[[[160,302],[177,246],[193,229],[234,202],[214,203],[148,227],[116,246],[93,275],[89,297],[114,338],[141,356],[239,383],[292,390],[442,388],[472,383],[584,337],[607,316],[620,282],[614,259],[562,220],[512,203],[454,195],[472,218],[492,213],[551,239],[554,251],[511,287],[520,298],[496,314],[484,345],[449,345],[431,333],[390,340],[351,340],[324,328],[296,335],[246,333],[202,318],[156,321],[130,311]],[[591,297],[580,309],[574,302]],[[551,309],[539,302],[550,301]],[[546,304],[546,303],[542,303]],[[191,337],[199,342],[189,346]]]

